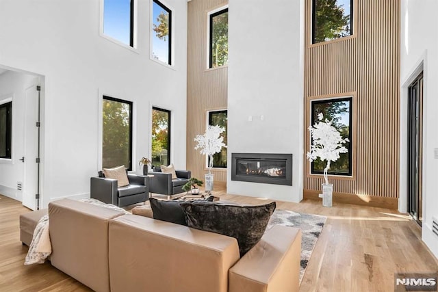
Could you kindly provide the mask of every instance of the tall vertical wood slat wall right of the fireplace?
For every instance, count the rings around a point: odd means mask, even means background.
[[[306,1],[305,118],[310,120],[310,97],[357,95],[355,180],[336,179],[334,191],[398,198],[399,159],[404,159],[399,157],[400,0],[355,1],[355,36],[316,45],[310,38],[311,2]],[[305,191],[320,190],[322,176],[307,174]]]

